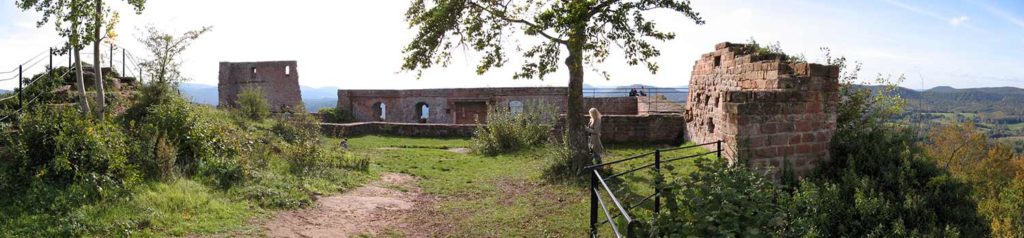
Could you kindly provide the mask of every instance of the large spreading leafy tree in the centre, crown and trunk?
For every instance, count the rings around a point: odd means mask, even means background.
[[[563,62],[569,72],[567,143],[572,167],[583,171],[592,158],[584,132],[584,66],[604,62],[609,46],[616,45],[629,65],[644,65],[656,73],[653,58],[660,51],[650,40],[666,41],[676,35],[656,29],[645,15],[654,9],[703,24],[687,0],[413,0],[406,19],[419,33],[403,49],[401,68],[422,74],[435,64],[446,66],[451,51],[464,48],[483,53],[476,67],[476,73],[483,74],[508,62],[509,38],[525,36],[541,43],[515,47],[525,62],[513,78],[543,80],[559,69],[558,62],[567,53]]]

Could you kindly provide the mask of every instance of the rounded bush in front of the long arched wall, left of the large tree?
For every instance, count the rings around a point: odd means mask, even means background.
[[[490,108],[487,123],[473,133],[474,151],[494,156],[547,142],[557,120],[554,108],[535,103],[527,109],[513,114],[506,107]]]

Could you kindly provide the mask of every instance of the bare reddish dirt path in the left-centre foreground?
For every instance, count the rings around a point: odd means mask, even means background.
[[[421,200],[413,176],[384,173],[358,189],[321,197],[313,207],[278,213],[264,228],[270,237],[375,235],[403,227],[398,223]]]

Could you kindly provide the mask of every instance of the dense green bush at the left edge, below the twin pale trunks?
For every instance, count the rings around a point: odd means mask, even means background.
[[[128,162],[125,135],[109,121],[93,121],[71,109],[41,107],[17,122],[17,133],[4,136],[0,152],[0,188],[23,193],[39,188],[75,188],[92,200],[103,190],[137,182]]]

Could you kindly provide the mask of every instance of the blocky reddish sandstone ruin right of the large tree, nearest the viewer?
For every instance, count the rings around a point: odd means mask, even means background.
[[[689,141],[722,140],[727,158],[758,167],[780,168],[788,160],[798,174],[828,159],[837,67],[791,63],[744,44],[715,48],[693,66],[685,108]]]

